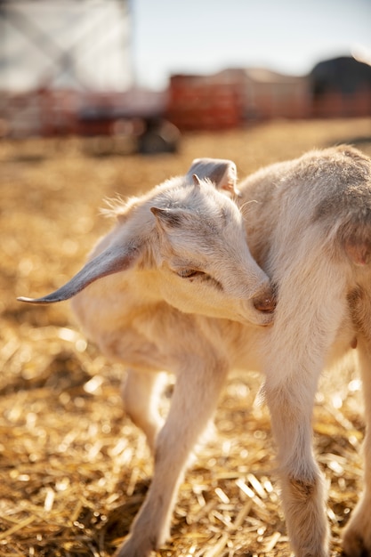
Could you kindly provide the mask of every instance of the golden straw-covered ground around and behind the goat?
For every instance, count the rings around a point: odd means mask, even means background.
[[[370,135],[369,119],[278,122],[186,135],[178,154],[156,157],[72,138],[0,143],[1,555],[111,554],[152,470],[143,436],[121,406],[121,367],[85,342],[68,303],[30,307],[16,296],[43,295],[77,271],[109,229],[99,214],[103,198],[148,190],[184,173],[194,157],[233,158],[243,176],[343,141],[371,155]],[[259,384],[256,374],[230,377],[216,433],[181,485],[173,537],[157,555],[290,555],[269,416],[254,406]],[[362,484],[364,424],[352,368],[326,375],[313,424],[336,555]]]

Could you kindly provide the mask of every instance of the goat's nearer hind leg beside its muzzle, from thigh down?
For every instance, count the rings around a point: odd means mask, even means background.
[[[325,489],[313,456],[311,417],[319,374],[346,311],[346,285],[335,264],[323,257],[315,261],[316,251],[301,253],[302,261],[293,259],[295,266],[278,289],[266,356],[266,399],[294,553],[327,557]]]

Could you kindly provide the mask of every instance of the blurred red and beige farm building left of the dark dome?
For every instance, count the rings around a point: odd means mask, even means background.
[[[307,77],[268,69],[225,69],[212,76],[173,76],[166,117],[181,130],[222,129],[311,113]]]

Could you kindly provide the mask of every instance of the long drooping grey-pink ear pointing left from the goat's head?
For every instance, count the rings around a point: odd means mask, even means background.
[[[107,277],[120,270],[129,269],[139,254],[140,250],[136,247],[128,249],[122,245],[109,246],[104,252],[87,262],[85,267],[75,277],[71,278],[67,284],[52,292],[52,294],[45,295],[42,298],[20,297],[18,300],[28,303],[55,303],[69,300],[69,298],[77,295],[78,292],[84,290],[85,287],[98,280],[98,278]]]

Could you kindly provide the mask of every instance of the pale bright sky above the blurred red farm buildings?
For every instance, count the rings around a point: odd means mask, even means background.
[[[262,66],[309,72],[364,50],[371,61],[371,0],[131,0],[138,85],[165,88],[172,73]]]

